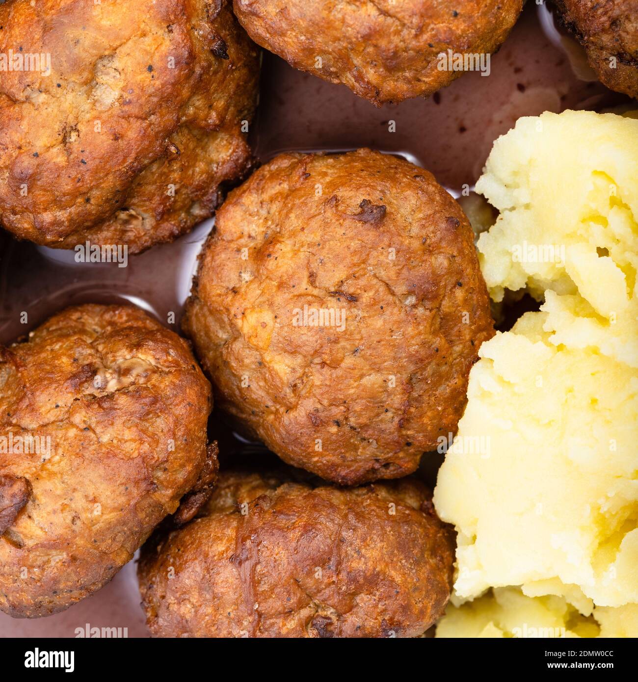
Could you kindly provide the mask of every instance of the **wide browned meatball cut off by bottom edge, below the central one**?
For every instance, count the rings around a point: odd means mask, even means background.
[[[151,537],[139,580],[160,637],[412,637],[443,612],[454,539],[411,479],[317,487],[224,473],[205,513]]]

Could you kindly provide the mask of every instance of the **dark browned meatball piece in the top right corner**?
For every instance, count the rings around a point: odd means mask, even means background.
[[[587,52],[600,82],[638,98],[638,4],[635,0],[557,0],[566,27]]]

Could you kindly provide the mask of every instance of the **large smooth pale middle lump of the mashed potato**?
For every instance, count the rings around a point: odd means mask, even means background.
[[[582,612],[638,602],[638,370],[555,344],[544,312],[480,348],[435,505],[459,532],[460,599],[523,585]]]

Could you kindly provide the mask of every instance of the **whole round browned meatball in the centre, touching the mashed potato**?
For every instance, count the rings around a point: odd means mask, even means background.
[[[493,335],[472,228],[422,168],[285,154],[220,209],[184,330],[219,406],[289,464],[397,478],[448,439]]]

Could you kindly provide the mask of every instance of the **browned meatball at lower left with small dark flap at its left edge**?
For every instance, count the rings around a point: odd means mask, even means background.
[[[100,589],[216,473],[210,386],[188,344],[132,306],[79,306],[0,346],[0,610]]]

